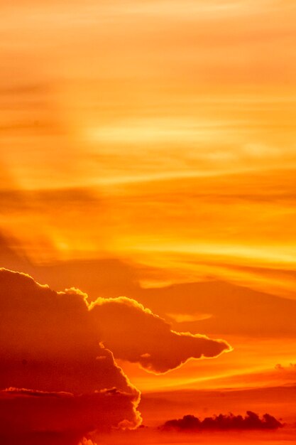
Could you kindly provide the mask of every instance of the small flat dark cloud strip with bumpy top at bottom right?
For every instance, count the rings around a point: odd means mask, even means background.
[[[229,429],[278,429],[283,427],[283,424],[270,416],[264,414],[259,417],[258,414],[252,411],[247,411],[246,416],[234,414],[219,414],[218,416],[205,417],[200,420],[198,417],[190,414],[182,417],[182,419],[172,419],[165,422],[160,429],[170,430],[176,429],[179,431],[201,431],[201,430],[229,430]]]

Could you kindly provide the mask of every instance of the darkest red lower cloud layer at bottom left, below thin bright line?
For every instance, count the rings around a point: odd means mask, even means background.
[[[133,424],[134,401],[116,389],[73,395],[9,388],[0,392],[1,444],[76,445],[89,431],[120,425],[123,414]]]

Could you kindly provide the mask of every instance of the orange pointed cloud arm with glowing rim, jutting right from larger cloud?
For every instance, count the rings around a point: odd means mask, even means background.
[[[190,358],[211,358],[231,350],[222,340],[172,331],[163,318],[133,299],[99,298],[89,308],[94,323],[99,322],[102,343],[114,356],[151,372],[167,372]]]

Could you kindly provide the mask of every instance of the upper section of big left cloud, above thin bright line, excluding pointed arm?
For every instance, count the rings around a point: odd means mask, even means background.
[[[131,390],[80,291],[55,292],[26,274],[0,269],[0,389],[89,393]]]

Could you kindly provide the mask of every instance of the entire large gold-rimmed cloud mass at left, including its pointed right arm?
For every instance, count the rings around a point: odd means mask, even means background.
[[[230,349],[172,331],[135,300],[87,298],[0,269],[3,441],[74,445],[89,431],[137,427],[140,393],[114,357],[165,372]]]

